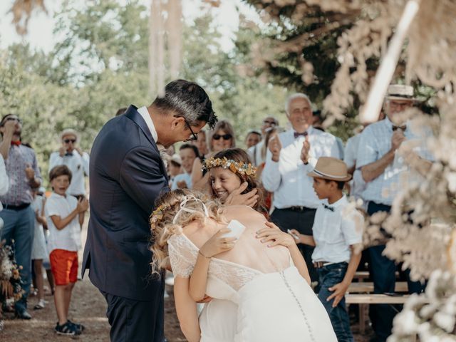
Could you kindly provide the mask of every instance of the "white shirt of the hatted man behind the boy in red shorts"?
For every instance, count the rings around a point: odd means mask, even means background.
[[[49,159],[49,170],[57,165],[66,165],[71,171],[71,183],[66,193],[73,196],[86,194],[86,182],[84,175],[88,175],[88,164],[90,157],[86,152],[80,155],[78,151],[73,150],[72,155],[61,155],[59,152],[52,152]]]

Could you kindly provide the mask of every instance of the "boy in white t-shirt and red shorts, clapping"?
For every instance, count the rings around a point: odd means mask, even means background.
[[[78,280],[78,250],[81,248],[81,224],[88,209],[87,199],[66,195],[71,171],[66,165],[53,167],[49,172],[52,195],[45,206],[48,222],[48,245],[51,270],[56,284],[54,303],[58,323],[54,329],[61,335],[79,335],[83,326],[68,319],[71,291]]]

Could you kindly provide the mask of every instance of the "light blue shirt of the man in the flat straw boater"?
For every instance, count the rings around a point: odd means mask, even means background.
[[[432,154],[427,149],[426,140],[431,136],[429,128],[412,128],[406,124],[405,141],[403,144],[414,145],[413,151],[425,160],[433,160]],[[391,149],[393,137],[393,124],[388,118],[368,125],[363,133],[358,147],[358,162],[356,168],[361,170],[364,165],[371,164],[383,157]],[[392,205],[393,199],[403,188],[405,183],[411,182],[410,167],[403,157],[395,154],[393,162],[375,180],[367,182],[362,193],[364,201],[373,201],[378,204]]]

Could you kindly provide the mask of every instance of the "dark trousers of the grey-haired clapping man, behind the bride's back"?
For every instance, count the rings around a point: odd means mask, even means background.
[[[271,222],[274,222],[283,232],[287,229],[296,229],[301,234],[313,235],[312,227],[314,226],[316,209],[304,208],[296,211],[292,209],[274,209],[271,214]],[[314,247],[306,244],[299,244],[299,250],[306,261],[307,269],[311,276],[311,281],[318,281],[318,274],[312,263],[312,253]]]

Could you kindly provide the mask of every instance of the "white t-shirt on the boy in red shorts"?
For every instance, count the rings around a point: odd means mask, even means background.
[[[53,224],[51,216],[57,215],[61,219],[67,217],[78,206],[78,199],[71,195],[61,196],[55,192],[46,201],[46,219],[48,221],[49,237],[48,248],[51,253],[54,249],[78,252],[81,249],[81,225],[79,214],[61,230]]]

